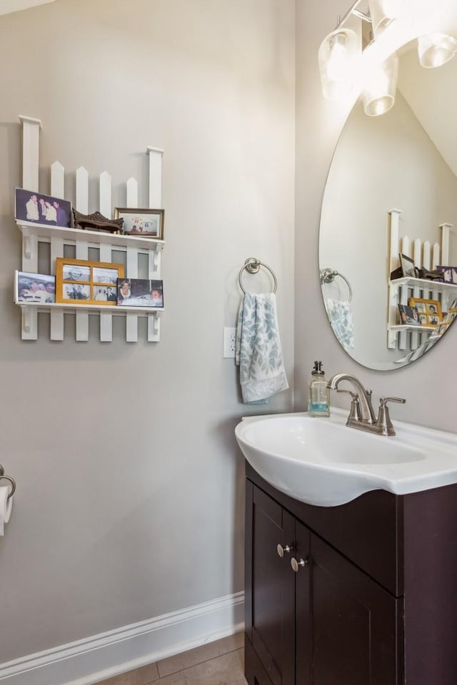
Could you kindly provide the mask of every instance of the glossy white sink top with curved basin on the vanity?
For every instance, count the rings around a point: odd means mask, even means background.
[[[457,435],[396,421],[384,437],[348,428],[347,412],[249,417],[236,440],[251,466],[290,497],[336,507],[370,490],[408,494],[457,482]]]

